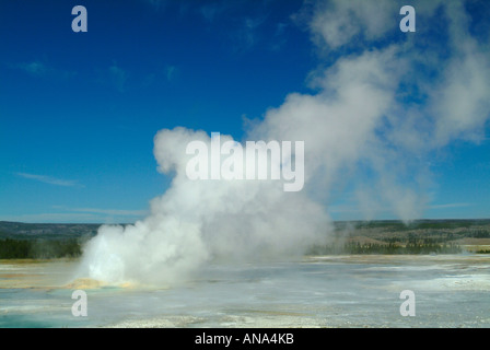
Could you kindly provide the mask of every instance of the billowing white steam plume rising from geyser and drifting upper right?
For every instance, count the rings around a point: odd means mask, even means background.
[[[174,176],[171,187],[151,202],[147,219],[101,228],[85,248],[82,273],[112,283],[172,283],[212,259],[302,254],[331,231],[329,196],[347,178],[366,219],[381,207],[405,221],[420,217],[431,153],[455,138],[485,138],[490,43],[488,33],[470,34],[463,1],[413,7],[418,25],[434,23],[445,43],[429,45],[423,31],[394,39],[400,18],[392,0],[308,2],[295,16],[329,63],[312,73],[316,93],[288,95],[245,139],[304,140],[302,191],[284,192],[272,180],[189,180],[186,145],[209,144],[209,135],[162,130],[154,154]]]

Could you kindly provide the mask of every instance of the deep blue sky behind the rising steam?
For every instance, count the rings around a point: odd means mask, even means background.
[[[71,31],[77,4],[88,9],[88,33]],[[241,139],[244,119],[262,118],[289,93],[311,93],[313,70],[354,52],[319,54],[293,21],[302,8],[302,1],[0,2],[0,220],[144,217],[170,184],[152,153],[160,129]],[[468,9],[471,31],[488,38],[488,5],[471,1]],[[443,35],[433,31],[432,38]],[[478,144],[454,141],[433,154],[424,218],[490,217],[488,131],[487,122]],[[362,219],[346,192],[334,196],[331,215]]]

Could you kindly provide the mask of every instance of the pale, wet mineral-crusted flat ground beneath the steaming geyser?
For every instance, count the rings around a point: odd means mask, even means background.
[[[490,256],[318,256],[209,264],[173,288],[92,285],[78,261],[0,261],[0,327],[490,327]],[[402,317],[402,290],[417,314]]]

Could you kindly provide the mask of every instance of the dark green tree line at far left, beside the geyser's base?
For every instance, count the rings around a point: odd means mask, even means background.
[[[81,244],[67,240],[0,240],[0,259],[51,259],[78,257]]]

